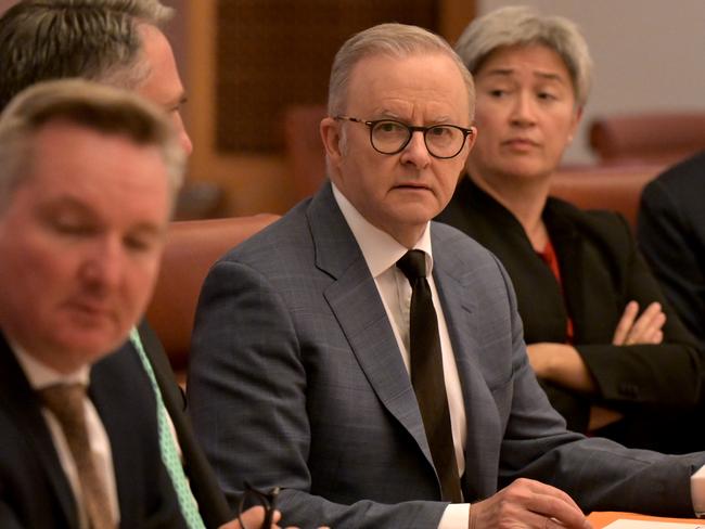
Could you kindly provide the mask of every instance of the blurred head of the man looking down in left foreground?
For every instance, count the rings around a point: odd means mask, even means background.
[[[0,118],[0,330],[70,372],[121,344],[158,272],[183,150],[140,98],[36,85]]]

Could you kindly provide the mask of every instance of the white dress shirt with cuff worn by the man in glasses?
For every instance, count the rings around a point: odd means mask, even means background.
[[[411,306],[411,285],[401,270],[396,267],[397,261],[409,250],[420,249],[426,255],[426,279],[431,286],[433,304],[438,318],[438,335],[444,364],[444,377],[448,408],[450,410],[450,424],[458,462],[458,475],[465,472],[465,439],[467,425],[465,407],[463,403],[462,387],[458,375],[458,366],[453,356],[446,318],[438,298],[438,291],[433,281],[433,253],[431,247],[431,231],[428,224],[413,248],[407,248],[394,240],[388,233],[375,228],[368,222],[350,202],[333,185],[333,196],[337,202],[343,217],[352,231],[352,235],[360,246],[362,256],[374,279],[380,292],[382,304],[387,312],[394,336],[399,345],[403,363],[409,371],[409,311]],[[438,529],[466,528],[470,515],[470,505],[451,504],[446,508]]]

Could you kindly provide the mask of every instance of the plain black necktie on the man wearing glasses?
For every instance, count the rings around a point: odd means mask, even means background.
[[[426,439],[440,479],[444,501],[462,502],[456,450],[450,429],[450,411],[446,396],[438,320],[426,281],[423,251],[409,250],[397,261],[411,284],[411,385],[416,393]]]

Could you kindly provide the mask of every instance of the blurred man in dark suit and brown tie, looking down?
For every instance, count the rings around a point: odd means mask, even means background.
[[[156,280],[183,152],[163,113],[78,80],[0,119],[0,527],[187,527],[154,393],[120,349]]]

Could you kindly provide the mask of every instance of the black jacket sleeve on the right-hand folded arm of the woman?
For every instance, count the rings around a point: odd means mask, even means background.
[[[664,340],[658,345],[576,345],[592,373],[601,399],[611,407],[641,404],[654,408],[694,407],[700,392],[701,352],[692,335],[661,292],[626,221],[613,223],[613,255],[623,272],[615,288],[621,310],[636,300],[640,310],[658,301],[666,314]],[[599,314],[593,314],[598,318]]]

